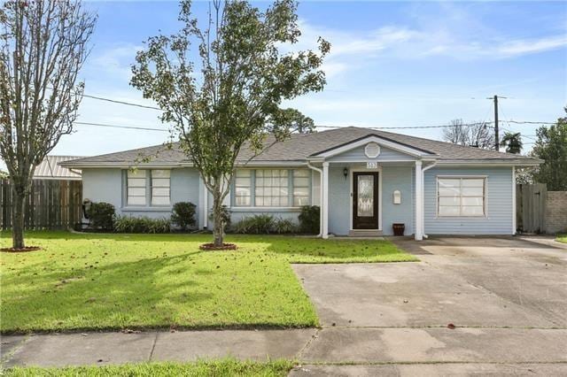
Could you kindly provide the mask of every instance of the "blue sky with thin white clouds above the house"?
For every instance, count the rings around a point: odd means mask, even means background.
[[[268,3],[259,3],[265,7]],[[98,13],[85,93],[151,104],[130,88],[129,65],[151,35],[174,32],[175,2],[93,2]],[[194,6],[205,16],[208,3]],[[501,119],[554,121],[567,103],[567,3],[304,2],[299,47],[331,42],[322,93],[291,105],[318,125],[403,127]],[[84,122],[163,127],[158,112],[84,98]],[[536,126],[505,127],[534,135]],[[439,139],[437,128],[400,133]],[[95,155],[164,142],[167,132],[76,126],[54,154]],[[532,142],[526,139],[524,142]],[[529,145],[528,145],[529,147]]]

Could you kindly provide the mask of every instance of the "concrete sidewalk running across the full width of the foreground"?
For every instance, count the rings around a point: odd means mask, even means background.
[[[567,373],[567,329],[326,327],[3,336],[4,366],[235,357],[304,364],[532,363]],[[564,363],[564,364],[562,364]],[[300,371],[296,371],[299,373]]]

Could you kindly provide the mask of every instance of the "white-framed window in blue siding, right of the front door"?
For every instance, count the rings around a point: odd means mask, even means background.
[[[439,216],[485,216],[484,177],[438,177]]]

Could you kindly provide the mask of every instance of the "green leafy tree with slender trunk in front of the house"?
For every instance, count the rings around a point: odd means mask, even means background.
[[[213,195],[214,244],[222,244],[222,200],[245,143],[260,152],[268,135],[283,140],[310,132],[313,120],[282,103],[322,90],[319,69],[330,43],[318,51],[288,51],[300,35],[297,4],[278,0],[265,11],[246,1],[213,1],[199,27],[190,1],[181,3],[183,28],[157,35],[138,51],[131,85],[163,110],[181,148]]]

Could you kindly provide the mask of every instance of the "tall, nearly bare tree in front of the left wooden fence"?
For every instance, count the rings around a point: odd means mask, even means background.
[[[14,197],[12,247],[25,247],[25,198],[35,166],[73,131],[96,15],[71,0],[7,1],[0,8],[0,156]]]

